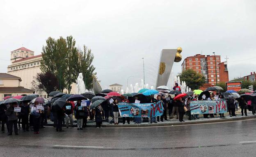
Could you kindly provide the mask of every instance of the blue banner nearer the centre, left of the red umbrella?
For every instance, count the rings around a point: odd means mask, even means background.
[[[117,106],[121,117],[157,117],[164,113],[163,102],[147,104],[119,102]]]

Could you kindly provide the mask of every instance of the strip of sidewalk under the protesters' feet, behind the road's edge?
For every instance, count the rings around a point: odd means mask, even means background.
[[[236,117],[230,117],[229,113],[224,114],[224,118],[220,118],[219,114],[215,115],[214,118],[203,118],[203,115],[199,115],[199,119],[192,119],[188,120],[188,116],[184,115],[184,120],[185,122],[179,122],[178,119],[176,119],[176,115],[174,115],[173,119],[169,119],[169,115],[167,115],[168,121],[164,120],[164,122],[158,122],[158,123],[152,123],[150,124],[149,122],[144,122],[141,124],[135,124],[133,121],[130,121],[130,124],[125,124],[120,122],[120,117],[119,117],[119,125],[114,125],[110,124],[109,122],[102,122],[103,127],[107,128],[119,128],[119,127],[149,127],[149,126],[172,126],[172,125],[186,125],[186,124],[202,124],[202,123],[213,123],[213,122],[226,122],[226,121],[233,121],[233,120],[241,120],[241,119],[251,119],[251,118],[256,118],[256,115],[253,115],[251,111],[247,111],[247,116],[245,114],[242,116],[241,115],[241,110],[239,109],[238,111],[235,111]],[[76,119],[75,119],[76,120]],[[75,121],[76,122],[76,121]],[[73,123],[74,127],[76,127],[76,123]],[[48,120],[48,124],[46,126],[53,126],[53,122]],[[65,126],[65,125],[64,125]],[[87,121],[87,127],[96,127],[96,122],[95,121],[90,121],[88,119]]]

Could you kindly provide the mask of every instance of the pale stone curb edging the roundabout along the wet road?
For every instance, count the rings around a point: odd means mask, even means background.
[[[179,122],[171,122],[171,123],[157,123],[157,124],[121,124],[121,125],[106,125],[102,124],[101,126],[104,128],[136,128],[136,127],[152,127],[152,126],[182,126],[187,124],[204,124],[204,123],[215,123],[215,122],[229,122],[229,121],[237,121],[237,120],[243,120],[243,119],[254,119],[256,118],[256,115],[251,116],[239,116],[239,117],[232,117],[227,119],[214,119],[214,120],[205,120],[205,121],[185,121],[182,123]],[[53,126],[53,124],[46,124],[46,126]],[[64,127],[65,125],[63,125]],[[73,127],[76,127],[76,125],[73,125]],[[95,128],[96,125],[87,125],[87,128]]]

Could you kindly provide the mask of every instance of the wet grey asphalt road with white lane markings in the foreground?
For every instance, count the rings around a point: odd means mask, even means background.
[[[255,157],[256,119],[146,128],[0,133],[0,157]]]

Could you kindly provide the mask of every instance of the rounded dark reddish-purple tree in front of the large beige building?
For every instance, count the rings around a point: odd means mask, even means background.
[[[44,91],[47,93],[47,97],[51,91],[56,91],[59,85],[58,79],[49,71],[46,73],[37,73],[31,84],[33,90]]]

